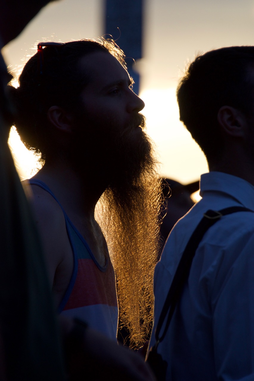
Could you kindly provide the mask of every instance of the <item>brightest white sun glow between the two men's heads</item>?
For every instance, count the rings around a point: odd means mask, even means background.
[[[160,173],[183,184],[198,180],[197,167],[207,172],[203,152],[179,120],[176,88],[141,91],[147,133],[156,144]]]

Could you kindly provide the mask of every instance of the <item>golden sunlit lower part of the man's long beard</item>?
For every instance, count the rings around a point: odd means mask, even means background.
[[[149,339],[153,322],[153,272],[159,252],[161,179],[143,173],[126,203],[107,189],[97,205],[96,219],[108,243],[117,281],[120,322],[130,331],[130,346]],[[121,327],[120,327],[121,328]]]

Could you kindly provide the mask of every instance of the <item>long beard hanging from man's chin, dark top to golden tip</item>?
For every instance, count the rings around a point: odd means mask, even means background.
[[[132,345],[140,346],[153,317],[161,187],[150,139],[135,128],[137,120],[115,141],[114,176],[97,204],[96,219],[116,272],[120,321],[129,327]]]

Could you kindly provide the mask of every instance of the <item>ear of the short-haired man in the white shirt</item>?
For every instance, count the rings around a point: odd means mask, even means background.
[[[240,110],[231,106],[220,107],[217,120],[224,133],[241,137],[244,135],[245,117]]]

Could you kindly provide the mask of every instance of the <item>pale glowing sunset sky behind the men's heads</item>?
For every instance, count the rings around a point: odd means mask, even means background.
[[[44,8],[3,54],[11,69],[17,70],[39,40],[65,42],[103,33],[102,0],[62,0]],[[137,70],[148,134],[156,142],[165,176],[186,183],[207,171],[202,152],[178,121],[175,88],[186,62],[200,51],[252,45],[253,35],[254,2],[250,0],[145,1],[144,58],[137,62]],[[118,43],[121,47],[121,39]],[[25,154],[16,149],[16,156],[24,159]],[[31,173],[30,157],[28,164],[19,165]]]

